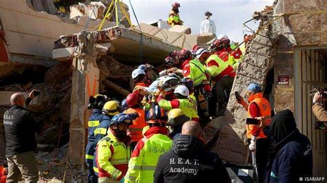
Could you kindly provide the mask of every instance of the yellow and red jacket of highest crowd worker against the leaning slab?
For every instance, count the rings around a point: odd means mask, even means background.
[[[216,54],[212,54],[207,58],[206,71],[215,81],[224,76],[235,76],[235,71],[228,62],[221,60]]]

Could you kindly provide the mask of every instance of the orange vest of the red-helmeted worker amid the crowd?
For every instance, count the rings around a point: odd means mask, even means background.
[[[128,127],[130,131],[130,135],[132,136],[132,142],[138,142],[143,138],[142,129],[146,127],[148,124],[146,123],[146,111],[141,108],[129,108],[124,111],[125,114],[135,113],[139,114],[139,118],[133,120],[133,125]]]

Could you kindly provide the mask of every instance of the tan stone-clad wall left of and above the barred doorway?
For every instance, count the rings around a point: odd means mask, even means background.
[[[322,12],[325,11],[325,12]],[[278,0],[275,16],[286,14],[273,27],[279,34],[275,57],[275,110],[294,111],[294,53],[293,45],[327,43],[327,3],[320,0]],[[289,14],[289,15],[287,15]],[[278,78],[289,78],[288,85],[278,84]],[[288,100],[285,100],[288,98]]]

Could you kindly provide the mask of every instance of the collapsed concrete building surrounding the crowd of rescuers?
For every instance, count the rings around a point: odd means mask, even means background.
[[[100,92],[121,100],[132,91],[130,73],[137,65],[162,65],[169,52],[208,47],[215,38],[184,34],[189,31],[183,26],[159,28],[161,21],[135,28],[106,21],[96,30],[101,20],[81,14],[72,21],[36,9],[24,1],[0,2],[0,114],[12,93],[41,90],[28,107],[44,121],[38,147],[50,151],[68,142],[68,162],[75,169],[83,167],[90,95]],[[11,17],[17,17],[16,23]],[[308,92],[326,90],[327,6],[318,0],[278,0],[273,8],[255,12],[254,19],[260,21],[259,28],[237,68],[228,110],[214,119],[219,133],[211,150],[226,162],[247,163],[246,110],[233,94],[244,96],[244,86],[255,82],[265,87],[276,112],[294,112],[299,131],[313,145],[314,175],[326,175],[326,132],[315,130]],[[3,129],[0,138],[4,139]]]

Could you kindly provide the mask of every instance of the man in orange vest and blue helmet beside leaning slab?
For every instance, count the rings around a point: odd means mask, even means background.
[[[270,104],[266,98],[261,87],[257,83],[250,83],[247,89],[247,97],[249,105],[240,96],[237,103],[241,104],[244,109],[248,110],[248,118],[262,117],[264,125],[269,128],[271,121],[271,109]],[[264,182],[264,170],[268,163],[268,151],[270,147],[269,140],[264,134],[264,129],[261,129],[259,125],[246,125],[246,136],[248,142],[250,142],[249,149],[250,154],[255,152],[255,159],[257,163],[258,180]]]

